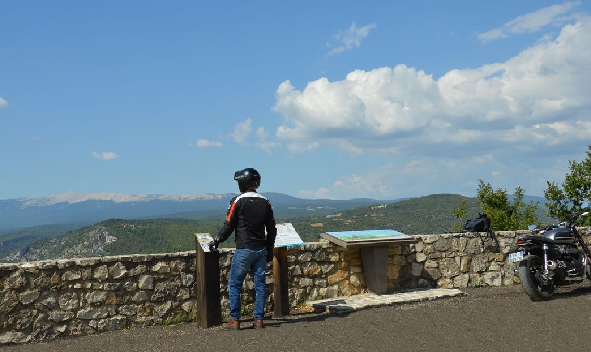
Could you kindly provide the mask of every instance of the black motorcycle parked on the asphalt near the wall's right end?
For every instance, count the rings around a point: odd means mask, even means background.
[[[509,253],[509,263],[519,263],[515,275],[521,287],[532,301],[547,301],[560,286],[591,280],[591,253],[574,223],[579,217],[589,214],[588,201],[581,204],[580,211],[558,226],[538,229],[534,233],[517,237]]]

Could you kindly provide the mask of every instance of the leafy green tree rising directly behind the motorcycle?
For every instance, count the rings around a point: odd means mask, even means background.
[[[569,160],[570,172],[564,177],[562,187],[556,182],[546,181],[548,188],[544,190],[544,197],[550,201],[545,203],[548,216],[566,220],[570,214],[580,210],[583,201],[591,199],[591,145],[587,145],[586,154],[581,162]],[[591,217],[580,219],[579,224],[591,226]]]

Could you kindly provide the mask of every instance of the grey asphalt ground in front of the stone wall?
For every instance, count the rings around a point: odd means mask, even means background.
[[[69,351],[577,351],[591,352],[591,287],[531,302],[519,285],[462,289],[465,296],[369,308],[346,315],[294,312],[267,328],[195,324],[135,328],[2,352]],[[252,320],[243,326],[250,327]]]

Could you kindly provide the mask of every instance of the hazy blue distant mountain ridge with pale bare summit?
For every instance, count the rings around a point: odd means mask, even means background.
[[[64,193],[43,198],[0,200],[0,232],[25,227],[91,224],[106,219],[223,217],[236,194],[126,195]],[[280,193],[263,193],[278,215],[307,215],[381,203],[372,199],[301,199]],[[391,202],[391,201],[388,201]]]

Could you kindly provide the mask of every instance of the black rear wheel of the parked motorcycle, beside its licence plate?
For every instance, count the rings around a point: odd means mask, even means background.
[[[530,296],[532,301],[547,301],[554,293],[554,283],[541,282],[541,274],[544,272],[544,261],[536,255],[525,256],[519,262],[519,281],[523,291]]]

